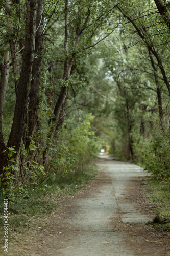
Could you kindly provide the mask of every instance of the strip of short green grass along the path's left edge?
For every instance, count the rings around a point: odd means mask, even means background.
[[[27,194],[21,202],[10,202],[8,209],[8,237],[15,232],[22,233],[28,231],[37,225],[37,219],[50,214],[52,211],[57,211],[60,204],[57,203],[57,198],[67,197],[75,194],[82,189],[88,182],[96,176],[96,167],[91,164],[88,172],[80,173],[69,179],[57,177],[55,174],[40,186],[26,186]],[[4,197],[0,191],[0,238],[4,241]],[[1,252],[1,250],[0,250]]]

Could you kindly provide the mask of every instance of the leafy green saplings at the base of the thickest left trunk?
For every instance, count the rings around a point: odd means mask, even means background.
[[[1,175],[4,184],[2,190],[4,198],[8,198],[11,203],[23,200],[27,193],[27,189],[24,188],[26,182],[37,185],[46,177],[44,167],[34,161],[34,155],[29,154],[37,150],[34,143],[34,141],[31,142],[29,152],[21,148],[21,152],[17,154],[13,147],[9,147],[3,152],[8,154],[8,165],[3,167],[3,174]],[[16,154],[16,161],[14,161]]]

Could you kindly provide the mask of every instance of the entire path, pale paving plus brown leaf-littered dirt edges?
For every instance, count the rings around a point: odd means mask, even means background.
[[[56,198],[57,212],[37,219],[28,233],[13,236],[9,256],[170,255],[170,233],[145,225],[157,207],[145,193],[147,174],[109,158],[97,164],[101,170],[88,187]]]

